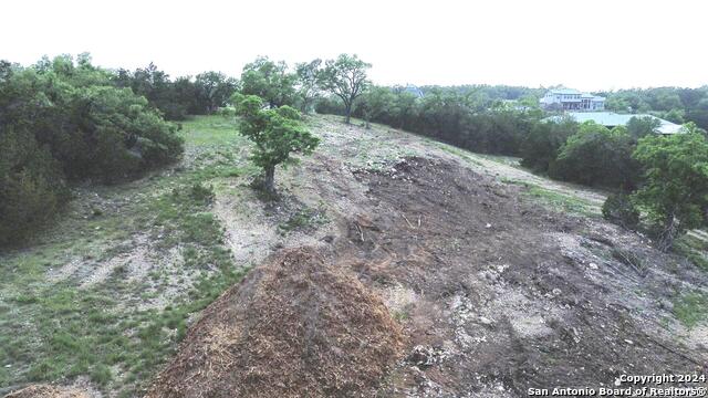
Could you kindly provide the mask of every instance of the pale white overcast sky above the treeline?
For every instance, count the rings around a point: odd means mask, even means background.
[[[232,76],[355,53],[376,84],[708,84],[708,1],[4,1],[0,59],[90,52],[104,67]]]

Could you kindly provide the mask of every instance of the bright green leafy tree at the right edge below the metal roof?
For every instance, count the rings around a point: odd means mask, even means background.
[[[680,233],[706,224],[708,142],[696,125],[684,134],[639,139],[633,157],[645,169],[645,184],[633,195],[658,228],[657,247],[668,251]]]

